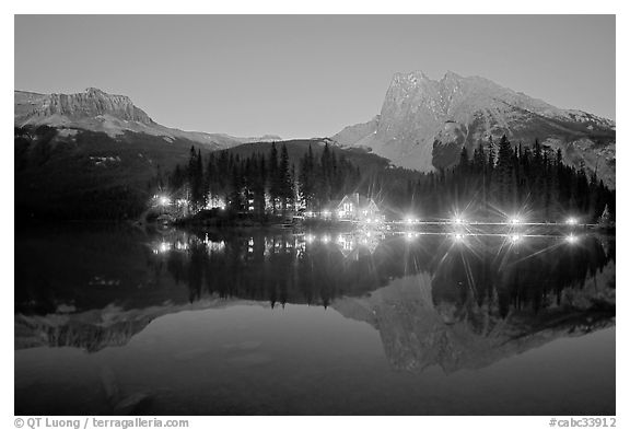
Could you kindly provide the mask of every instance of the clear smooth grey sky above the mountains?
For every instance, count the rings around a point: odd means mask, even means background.
[[[16,15],[15,90],[125,94],[184,130],[332,136],[396,72],[615,118],[614,15]]]

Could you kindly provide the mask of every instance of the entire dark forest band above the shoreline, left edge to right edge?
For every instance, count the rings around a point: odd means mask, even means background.
[[[453,167],[419,173],[317,139],[246,149],[254,153],[243,150],[247,146],[218,152],[192,147],[188,162],[175,168],[173,160],[188,151],[188,141],[162,148],[152,137],[137,136],[133,147],[92,131],[73,139],[59,140],[58,130],[47,126],[14,128],[20,222],[133,219],[153,201],[156,189],[186,199],[192,212],[210,204],[255,218],[298,208],[319,211],[351,193],[373,198],[393,218],[409,212],[446,218],[468,209],[478,218],[526,212],[536,221],[568,214],[596,221],[608,207],[611,223],[616,212],[614,190],[583,165],[570,166],[562,152],[537,141],[486,141],[472,151],[464,149]]]

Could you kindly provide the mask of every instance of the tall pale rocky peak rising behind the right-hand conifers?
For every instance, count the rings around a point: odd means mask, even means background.
[[[381,114],[332,137],[343,147],[362,147],[393,164],[428,172],[457,163],[462,148],[471,154],[490,137],[506,135],[513,144],[537,138],[562,149],[564,161],[585,167],[615,186],[615,121],[546,102],[479,77],[446,72],[431,80],[423,72],[396,73]]]

